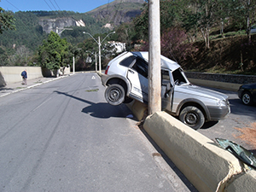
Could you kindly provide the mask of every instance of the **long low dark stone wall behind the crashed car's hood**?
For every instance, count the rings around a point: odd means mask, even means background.
[[[218,81],[231,84],[252,84],[256,83],[256,75],[216,74],[185,72],[189,79],[202,79]]]

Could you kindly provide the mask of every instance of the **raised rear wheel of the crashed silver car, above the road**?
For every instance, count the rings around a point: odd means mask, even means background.
[[[110,84],[105,90],[106,101],[117,106],[125,101],[125,89],[120,84]]]

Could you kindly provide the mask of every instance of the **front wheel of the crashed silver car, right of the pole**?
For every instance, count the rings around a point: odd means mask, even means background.
[[[205,116],[199,108],[188,106],[183,108],[179,114],[180,121],[183,124],[190,126],[194,130],[198,130],[205,123]]]

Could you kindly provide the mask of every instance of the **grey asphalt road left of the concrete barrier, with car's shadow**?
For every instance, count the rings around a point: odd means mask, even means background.
[[[196,191],[80,73],[0,98],[0,191]]]

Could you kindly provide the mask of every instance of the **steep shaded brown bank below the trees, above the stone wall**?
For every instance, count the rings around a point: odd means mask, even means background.
[[[212,40],[210,49],[204,42],[193,45],[192,54],[180,63],[184,70],[256,75],[256,35],[250,43],[244,34]]]

